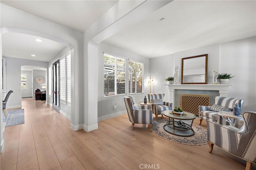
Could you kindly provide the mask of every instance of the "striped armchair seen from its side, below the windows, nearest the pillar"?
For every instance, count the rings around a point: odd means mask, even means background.
[[[134,129],[134,123],[138,123],[148,124],[150,127],[150,132],[152,132],[153,114],[152,110],[149,109],[150,106],[134,104],[132,96],[125,96],[124,103],[129,120],[132,122],[132,130]]]

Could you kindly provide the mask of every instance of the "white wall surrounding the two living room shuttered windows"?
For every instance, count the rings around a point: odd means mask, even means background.
[[[149,79],[149,59],[146,57],[139,56],[135,53],[119,49],[117,47],[100,43],[98,47],[98,121],[104,119],[109,119],[117,115],[126,113],[126,107],[124,105],[124,96],[107,96],[104,97],[104,55],[103,52],[112,54],[119,57],[124,57],[128,59],[133,59],[144,63],[144,93],[143,94],[132,94],[134,97],[134,102],[139,103],[143,102],[144,97],[149,93],[149,87],[147,85],[147,79]],[[116,103],[116,109],[113,109],[113,104]]]

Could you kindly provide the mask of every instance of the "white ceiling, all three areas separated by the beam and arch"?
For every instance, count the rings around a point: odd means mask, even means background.
[[[1,0],[3,4],[81,32],[116,2]],[[177,0],[103,42],[153,58],[253,36],[256,36],[256,1]],[[3,55],[50,61],[64,48],[48,39],[40,38],[42,42],[38,43],[34,41],[36,38],[18,33],[4,34]],[[31,57],[32,54],[36,57]]]

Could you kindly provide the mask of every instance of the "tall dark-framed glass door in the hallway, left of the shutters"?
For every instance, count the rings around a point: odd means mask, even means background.
[[[56,61],[52,65],[52,80],[53,80],[53,90],[52,90],[52,107],[60,112],[60,61]]]

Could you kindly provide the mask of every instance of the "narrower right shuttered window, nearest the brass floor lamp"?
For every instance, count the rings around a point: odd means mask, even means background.
[[[129,60],[129,94],[143,92],[143,63]]]

